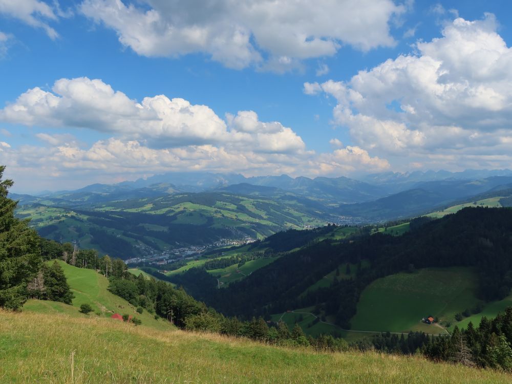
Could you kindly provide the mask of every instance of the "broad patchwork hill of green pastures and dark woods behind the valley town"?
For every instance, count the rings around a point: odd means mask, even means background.
[[[22,205],[41,236],[77,241],[114,257],[151,257],[221,239],[261,239],[288,228],[323,225],[322,210],[289,197],[286,201],[228,193],[186,193],[78,206]]]

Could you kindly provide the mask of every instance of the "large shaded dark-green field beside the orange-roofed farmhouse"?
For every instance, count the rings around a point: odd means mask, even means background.
[[[468,268],[425,268],[413,273],[397,273],[378,279],[362,291],[353,330],[445,332],[421,323],[432,315],[453,322],[457,312],[473,308],[477,281]]]

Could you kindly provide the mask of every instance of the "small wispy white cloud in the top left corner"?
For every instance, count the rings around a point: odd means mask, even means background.
[[[0,0],[0,14],[21,20],[34,28],[42,28],[51,39],[59,34],[48,23],[65,16],[57,1],[50,6],[38,0]]]

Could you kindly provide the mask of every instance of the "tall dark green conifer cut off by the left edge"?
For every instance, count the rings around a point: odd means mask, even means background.
[[[37,233],[28,220],[14,218],[17,202],[7,197],[12,180],[2,180],[0,165],[0,307],[18,309],[27,301],[27,285],[42,260]]]

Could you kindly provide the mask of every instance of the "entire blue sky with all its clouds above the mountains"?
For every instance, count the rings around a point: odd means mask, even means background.
[[[512,3],[0,0],[17,193],[512,168]]]

